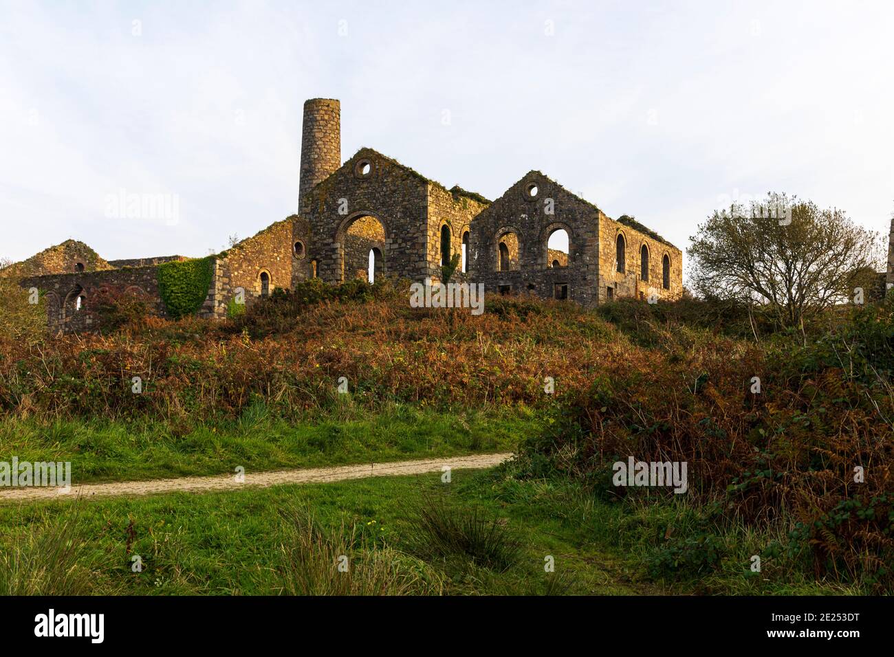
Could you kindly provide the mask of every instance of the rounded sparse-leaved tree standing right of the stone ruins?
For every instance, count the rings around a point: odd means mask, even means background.
[[[690,238],[692,284],[705,297],[761,307],[798,326],[855,288],[877,283],[880,235],[837,208],[770,194],[765,202],[715,211]]]

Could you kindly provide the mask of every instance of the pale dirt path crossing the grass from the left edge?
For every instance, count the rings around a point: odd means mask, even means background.
[[[235,475],[184,476],[179,479],[154,479],[150,481],[119,482],[114,484],[84,484],[72,486],[68,493],[60,488],[0,488],[0,501],[54,500],[61,497],[89,498],[108,495],[149,495],[152,493],[204,493],[206,491],[234,490],[245,486],[274,486],[277,484],[322,484],[345,479],[363,479],[367,476],[420,475],[426,472],[442,472],[451,469],[482,468],[499,465],[512,456],[481,454],[447,459],[396,461],[392,463],[368,463],[360,466],[310,467],[275,472],[246,472],[245,481],[236,481]]]

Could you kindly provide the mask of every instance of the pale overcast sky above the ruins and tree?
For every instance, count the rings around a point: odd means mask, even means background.
[[[297,208],[302,104],[497,198],[539,169],[679,248],[769,190],[887,233],[894,3],[0,0],[0,257],[206,255]],[[168,194],[177,221],[108,216]]]

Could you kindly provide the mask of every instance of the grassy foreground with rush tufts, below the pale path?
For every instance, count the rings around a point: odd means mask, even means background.
[[[720,536],[717,563],[656,575],[666,527],[686,535],[698,522],[685,506],[601,501],[512,464],[454,471],[449,484],[433,474],[5,505],[0,594],[860,593],[772,560],[753,577],[748,557],[766,536],[741,528]]]

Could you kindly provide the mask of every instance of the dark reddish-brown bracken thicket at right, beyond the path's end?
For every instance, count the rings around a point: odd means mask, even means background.
[[[673,341],[685,331],[665,336],[666,358],[651,351],[607,361],[569,400],[577,428],[533,448],[594,484],[619,457],[685,461],[696,500],[720,498],[746,523],[797,523],[790,548],[812,552],[818,573],[890,590],[892,332],[888,301],[853,311],[806,345],[703,335],[680,350]],[[762,380],[759,394],[750,390],[753,376]],[[858,466],[862,483],[854,479]],[[659,567],[685,566],[690,548],[703,549],[672,545]]]

